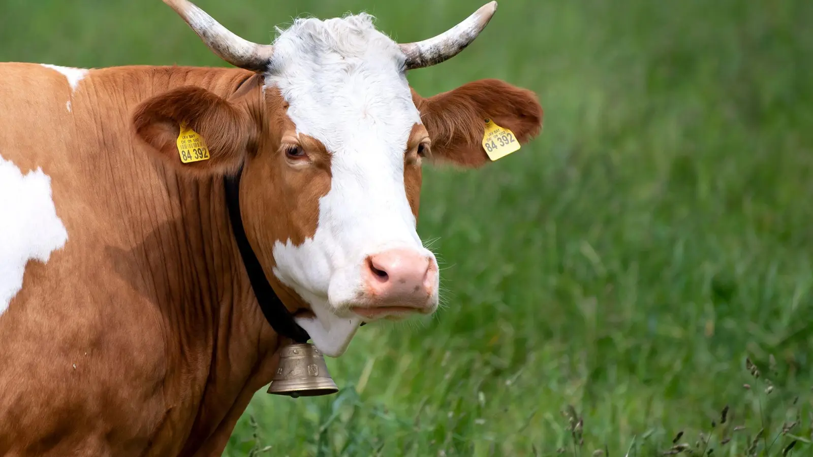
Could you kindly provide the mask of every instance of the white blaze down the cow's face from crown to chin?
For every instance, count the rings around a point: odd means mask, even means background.
[[[274,273],[311,304],[318,321],[300,324],[328,355],[340,355],[359,326],[347,308],[368,255],[405,248],[436,262],[404,188],[404,150],[420,113],[402,63],[398,45],[364,14],[297,20],[274,42],[266,85],[280,89],[298,133],[332,154],[315,236],[300,246],[277,242]]]

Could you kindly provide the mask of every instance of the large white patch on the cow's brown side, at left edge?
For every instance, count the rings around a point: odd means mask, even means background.
[[[23,175],[0,156],[0,315],[23,286],[30,259],[47,263],[67,242],[56,215],[50,177],[40,168]]]

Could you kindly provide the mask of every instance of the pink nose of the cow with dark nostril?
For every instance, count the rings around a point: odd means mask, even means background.
[[[414,250],[385,250],[367,257],[365,289],[379,306],[428,306],[437,281],[437,265]]]

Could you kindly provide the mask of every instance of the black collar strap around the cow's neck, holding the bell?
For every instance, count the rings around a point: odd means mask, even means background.
[[[225,176],[224,187],[226,190],[226,207],[228,207],[228,217],[232,221],[232,231],[237,239],[237,249],[243,259],[243,265],[249,275],[251,289],[257,297],[259,307],[263,310],[263,316],[272,329],[284,337],[291,338],[294,342],[304,343],[311,339],[305,329],[293,320],[293,315],[276,295],[271,284],[268,282],[263,267],[260,265],[254,250],[251,249],[249,239],[246,237],[246,230],[243,228],[243,220],[240,214],[240,178],[243,168],[237,171],[234,176]]]

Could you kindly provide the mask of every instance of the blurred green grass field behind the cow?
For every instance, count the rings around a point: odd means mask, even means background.
[[[412,41],[481,2],[198,4],[254,41],[346,11]],[[0,11],[0,60],[224,65],[158,0]],[[364,327],[328,359],[340,394],[261,390],[226,455],[643,456],[683,430],[692,447],[715,432],[695,455],[733,456],[763,426],[758,452],[796,439],[810,455],[811,23],[804,0],[502,0],[475,44],[409,76],[424,95],[498,77],[546,110],[541,137],[493,166],[426,171],[419,233],[446,307]]]

